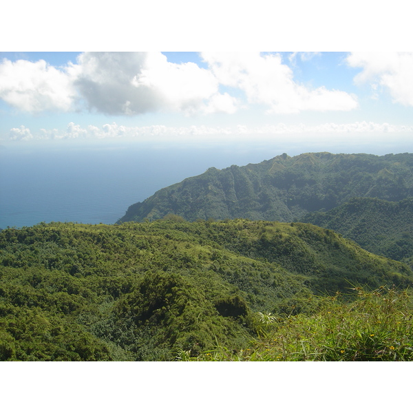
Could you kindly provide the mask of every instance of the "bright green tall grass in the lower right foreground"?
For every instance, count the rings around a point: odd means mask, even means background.
[[[353,288],[354,301],[320,298],[313,315],[259,314],[257,339],[233,352],[217,346],[190,361],[411,361],[412,300],[406,290]]]

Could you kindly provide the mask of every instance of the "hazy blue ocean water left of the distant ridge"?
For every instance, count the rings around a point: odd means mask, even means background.
[[[39,222],[114,224],[163,187],[273,158],[262,148],[16,142],[0,149],[0,228]]]

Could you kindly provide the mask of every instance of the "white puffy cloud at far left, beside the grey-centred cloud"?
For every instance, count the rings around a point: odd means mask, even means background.
[[[67,72],[43,60],[0,63],[0,98],[25,112],[65,112],[72,109],[75,94]]]

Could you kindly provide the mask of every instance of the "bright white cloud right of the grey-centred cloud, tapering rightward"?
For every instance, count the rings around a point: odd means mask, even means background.
[[[280,54],[219,52],[202,53],[202,58],[222,85],[242,89],[249,103],[266,105],[269,113],[348,111],[357,107],[356,98],[346,92],[325,87],[308,89],[296,83]]]

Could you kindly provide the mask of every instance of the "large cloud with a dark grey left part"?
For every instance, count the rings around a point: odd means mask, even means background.
[[[88,107],[105,114],[235,110],[209,70],[170,63],[160,52],[83,53],[75,84]]]

